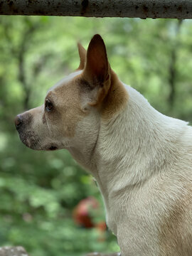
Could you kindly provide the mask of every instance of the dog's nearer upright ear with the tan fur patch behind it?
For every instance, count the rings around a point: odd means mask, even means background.
[[[82,78],[92,86],[92,90],[97,90],[95,100],[89,104],[100,107],[102,117],[110,119],[127,104],[127,91],[110,68],[105,43],[100,35],[95,35],[90,41]]]

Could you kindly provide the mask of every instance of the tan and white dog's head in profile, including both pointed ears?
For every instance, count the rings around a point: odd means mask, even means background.
[[[16,116],[19,137],[31,149],[94,144],[100,119],[110,118],[122,106],[119,80],[110,68],[102,38],[95,35],[87,52],[80,44],[78,50],[79,68],[50,88],[43,105]]]

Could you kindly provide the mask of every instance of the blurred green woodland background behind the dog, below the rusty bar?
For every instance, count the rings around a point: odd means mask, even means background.
[[[87,47],[95,33],[121,80],[160,112],[192,121],[191,21],[1,16],[0,246],[23,245],[31,256],[119,250],[92,177],[66,150],[28,149],[14,128],[16,114],[43,104],[78,67],[76,42]]]

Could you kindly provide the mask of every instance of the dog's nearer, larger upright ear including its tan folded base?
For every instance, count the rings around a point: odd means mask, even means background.
[[[90,105],[102,102],[110,88],[110,64],[107,60],[105,43],[100,35],[93,36],[90,41],[82,77],[97,94]]]

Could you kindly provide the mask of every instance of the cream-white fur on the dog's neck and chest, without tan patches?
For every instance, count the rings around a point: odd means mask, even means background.
[[[160,227],[186,193],[181,179],[191,181],[192,129],[124,86],[126,109],[107,122],[87,117],[77,129],[78,146],[69,150],[95,176],[122,255],[166,255],[159,247]]]

